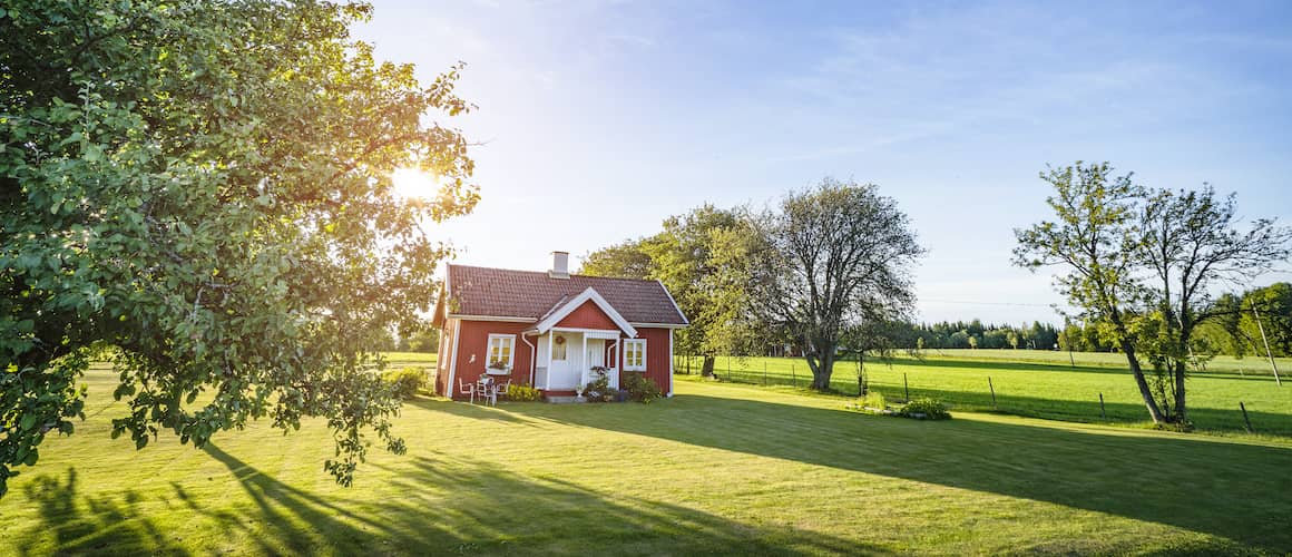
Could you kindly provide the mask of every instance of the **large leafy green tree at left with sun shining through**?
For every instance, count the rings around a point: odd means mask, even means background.
[[[403,450],[372,335],[433,300],[470,211],[456,71],[429,87],[349,26],[364,4],[17,0],[0,9],[0,492],[72,433],[90,350],[112,434],[205,443],[323,416],[349,483],[366,433]],[[439,177],[401,199],[390,172]],[[370,433],[371,434],[371,433]]]

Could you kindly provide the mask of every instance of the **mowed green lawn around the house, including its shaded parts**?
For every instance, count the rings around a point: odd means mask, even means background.
[[[318,421],[109,438],[114,376],[0,500],[0,553],[1284,553],[1292,442],[1005,415],[925,423],[680,377],[652,405],[410,401],[355,485]]]

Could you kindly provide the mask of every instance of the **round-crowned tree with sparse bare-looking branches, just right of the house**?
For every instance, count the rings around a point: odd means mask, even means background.
[[[911,270],[924,248],[895,200],[851,181],[792,193],[758,222],[752,308],[804,348],[813,388],[829,389],[845,332],[872,331],[913,305]]]

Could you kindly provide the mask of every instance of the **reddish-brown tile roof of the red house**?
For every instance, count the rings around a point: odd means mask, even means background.
[[[629,323],[686,324],[658,280],[570,275],[510,269],[448,266],[448,287],[455,315],[510,317],[537,322],[553,308],[592,287]]]

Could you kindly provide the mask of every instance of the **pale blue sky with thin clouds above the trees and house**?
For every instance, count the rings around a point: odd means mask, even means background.
[[[1292,221],[1292,3],[375,1],[355,35],[479,105],[459,262],[543,270],[702,203],[873,182],[929,256],[920,318],[1058,321],[1009,264],[1047,164],[1211,182]],[[1261,283],[1289,280],[1292,274]]]

